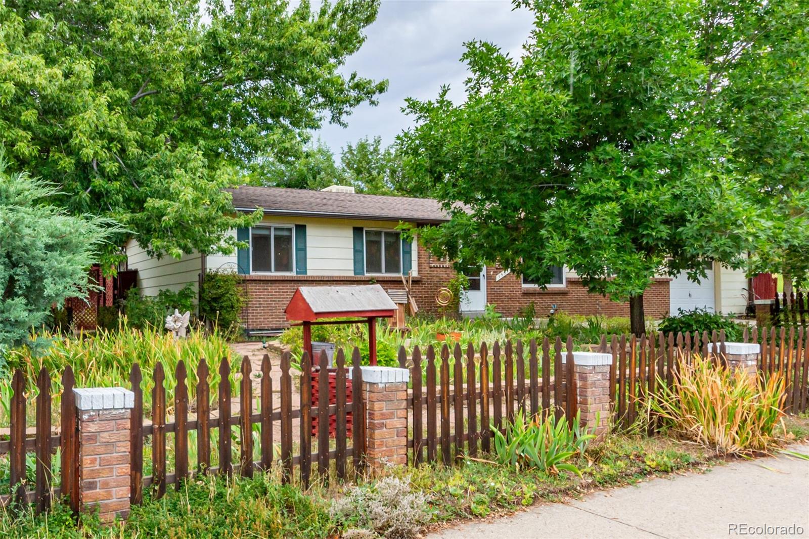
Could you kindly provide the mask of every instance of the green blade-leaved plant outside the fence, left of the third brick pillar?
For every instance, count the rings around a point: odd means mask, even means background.
[[[570,460],[582,455],[595,438],[595,429],[588,431],[582,427],[578,413],[569,426],[564,416],[556,419],[549,414],[544,419],[525,418],[519,411],[506,434],[497,427],[492,427],[492,431],[498,463],[516,469],[538,468],[546,473],[565,471],[578,476],[582,472]]]

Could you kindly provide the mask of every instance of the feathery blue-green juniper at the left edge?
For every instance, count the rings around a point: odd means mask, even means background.
[[[4,153],[0,146],[0,367],[2,349],[27,342],[53,303],[87,294],[87,269],[117,232],[114,223],[49,204],[54,186],[9,173]]]

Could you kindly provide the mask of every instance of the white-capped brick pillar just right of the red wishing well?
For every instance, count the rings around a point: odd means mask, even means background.
[[[408,369],[362,367],[366,458],[371,468],[407,464]]]

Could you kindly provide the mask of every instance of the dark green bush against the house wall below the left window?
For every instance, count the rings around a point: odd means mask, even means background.
[[[247,295],[242,280],[232,271],[209,271],[200,290],[199,316],[226,332],[235,332],[241,323]]]

